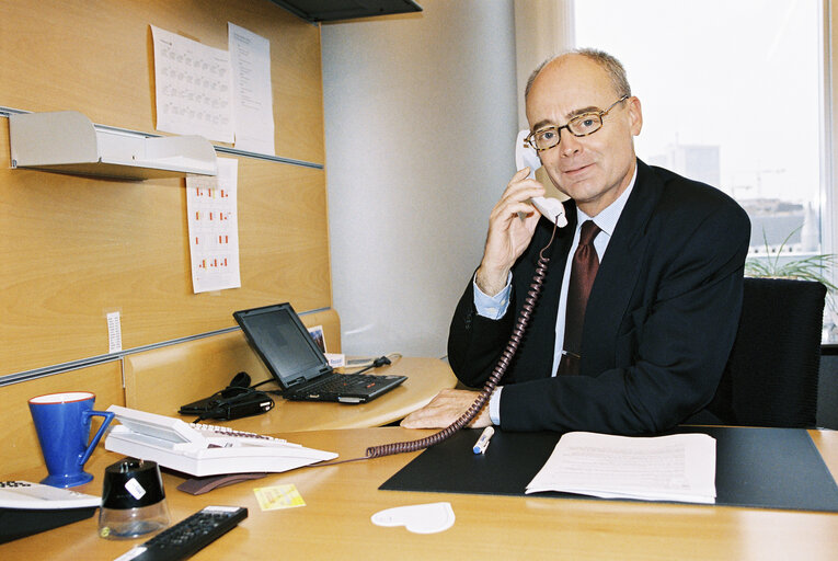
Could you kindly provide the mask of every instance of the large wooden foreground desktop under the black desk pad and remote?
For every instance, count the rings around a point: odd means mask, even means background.
[[[399,427],[323,431],[284,435],[306,446],[334,450],[344,459],[367,446],[428,434]],[[835,477],[838,433],[811,432]],[[208,504],[246,506],[249,517],[195,556],[217,559],[620,559],[767,560],[835,559],[838,514],[671,505],[538,496],[491,496],[379,491],[378,486],[418,453],[323,468],[305,468],[193,496],[164,474],[173,520]],[[104,468],[117,455],[97,450],[89,463],[93,482],[79,488],[99,494]],[[41,471],[15,473],[36,480]],[[440,473],[439,477],[445,477]],[[8,479],[8,477],[4,477]],[[306,506],[260,511],[253,488],[296,485]],[[447,501],[457,522],[440,534],[381,528],[370,516],[383,508]],[[4,560],[114,559],[145,541],[96,536],[96,518],[0,546]]]

